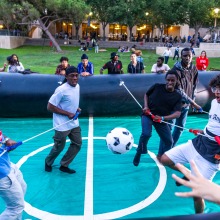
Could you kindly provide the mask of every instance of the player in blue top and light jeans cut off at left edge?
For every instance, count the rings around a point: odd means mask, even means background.
[[[0,144],[13,146],[15,141],[0,135]],[[0,153],[3,148],[0,148]],[[24,196],[27,185],[21,171],[15,164],[10,162],[9,152],[0,157],[0,197],[6,204],[6,209],[1,213],[1,220],[21,220],[24,210]]]

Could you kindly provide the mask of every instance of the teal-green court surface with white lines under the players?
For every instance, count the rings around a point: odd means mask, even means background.
[[[208,115],[188,117],[186,128],[203,129]],[[106,134],[115,127],[127,128],[138,144],[141,133],[139,116],[114,118],[80,118],[82,149],[70,165],[76,174],[59,171],[56,159],[52,173],[44,171],[44,160],[53,145],[53,131],[32,139],[10,153],[11,161],[17,163],[28,185],[23,219],[134,219],[159,216],[194,214],[193,201],[179,198],[171,174],[157,160],[159,138],[153,130],[148,144],[149,154],[143,155],[141,163],[132,163],[135,147],[128,153],[118,155],[108,150]],[[52,119],[1,118],[0,129],[17,141],[24,141],[52,128]],[[184,143],[194,135],[184,131],[179,140]],[[181,176],[181,174],[179,174]],[[220,184],[220,174],[214,178]],[[4,203],[0,199],[0,212]],[[206,202],[207,213],[219,212],[220,206]]]

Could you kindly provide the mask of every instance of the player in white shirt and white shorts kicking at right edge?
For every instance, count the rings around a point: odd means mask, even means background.
[[[204,130],[193,130],[198,135],[193,140],[164,153],[160,162],[178,170],[175,164],[189,163],[194,160],[200,173],[208,180],[212,180],[217,171],[220,170],[220,75],[217,75],[209,83],[215,99],[211,103],[209,120]],[[194,175],[194,173],[192,172]],[[185,178],[186,179],[186,178]],[[196,213],[203,213],[205,203],[202,198],[194,197],[194,208]]]

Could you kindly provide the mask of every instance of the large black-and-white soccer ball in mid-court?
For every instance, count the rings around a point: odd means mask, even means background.
[[[134,138],[126,128],[114,128],[107,134],[106,144],[114,154],[125,154],[131,150]]]

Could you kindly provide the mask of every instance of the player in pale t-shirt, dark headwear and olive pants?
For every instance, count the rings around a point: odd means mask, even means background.
[[[76,172],[68,166],[78,154],[82,145],[79,121],[74,118],[77,111],[81,111],[79,109],[78,76],[76,67],[70,66],[67,68],[66,82],[55,90],[47,105],[48,111],[53,112],[53,126],[58,126],[53,137],[54,146],[45,159],[45,171],[47,172],[52,171],[52,164],[64,149],[67,137],[70,139],[70,146],[60,161],[61,166],[59,169],[70,174]]]

